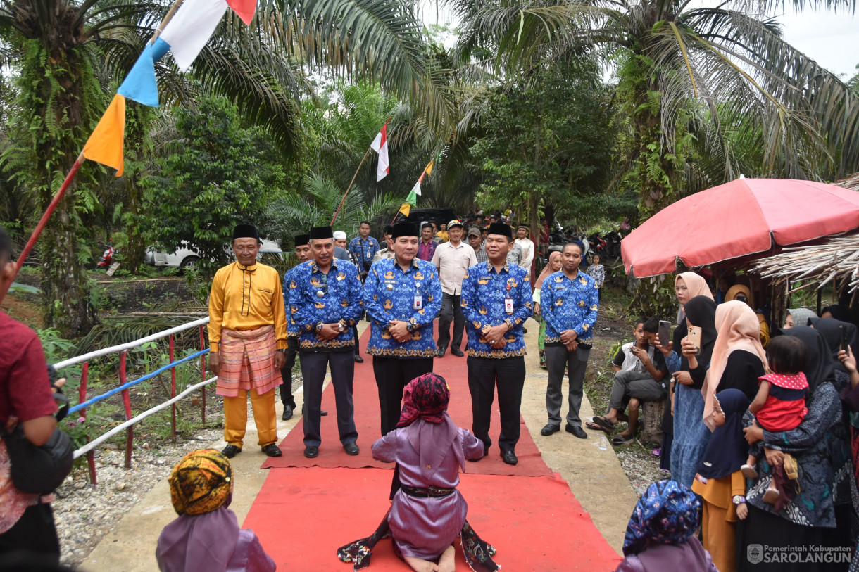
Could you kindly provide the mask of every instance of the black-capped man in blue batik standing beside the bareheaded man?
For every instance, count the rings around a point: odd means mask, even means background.
[[[486,236],[489,260],[478,262],[462,280],[462,313],[468,332],[468,389],[472,394],[472,432],[484,442],[489,436],[492,401],[498,391],[501,435],[498,447],[508,465],[519,462],[522,388],[525,386],[525,340],[522,324],[531,315],[531,280],[528,271],[510,265],[513,230],[506,224],[490,225]]]

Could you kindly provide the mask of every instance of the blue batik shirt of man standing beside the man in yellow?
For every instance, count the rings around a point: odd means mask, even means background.
[[[320,296],[319,293],[322,293]],[[314,260],[292,269],[289,281],[289,313],[300,332],[302,350],[338,350],[355,345],[352,326],[362,313],[361,281],[355,265],[332,259],[328,274]],[[320,341],[317,332],[324,324],[343,320],[345,327],[337,338]]]

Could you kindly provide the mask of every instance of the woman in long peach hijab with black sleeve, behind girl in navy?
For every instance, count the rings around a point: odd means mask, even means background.
[[[712,423],[713,395],[739,389],[749,401],[758,394],[758,378],[766,373],[766,352],[760,343],[758,317],[741,301],[716,308],[716,344],[704,380],[704,423]]]

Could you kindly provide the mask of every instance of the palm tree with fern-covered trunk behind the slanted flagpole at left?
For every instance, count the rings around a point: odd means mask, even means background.
[[[0,0],[0,64],[12,65],[20,89],[11,122],[18,143],[3,160],[40,209],[106,106],[113,90],[104,80],[125,76],[165,9],[156,0]],[[427,64],[420,23],[411,5],[398,0],[267,2],[250,27],[230,15],[191,75],[196,87],[234,97],[292,153],[301,139],[299,64],[378,81],[422,109],[436,130],[452,125],[454,107]],[[168,106],[193,94],[169,59],[157,73]],[[82,215],[98,205],[94,168],[83,167],[40,242],[46,323],[65,336],[88,331],[96,319],[82,241]]]

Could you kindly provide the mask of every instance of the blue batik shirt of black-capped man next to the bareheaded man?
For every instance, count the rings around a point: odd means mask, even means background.
[[[513,312],[505,311],[504,299],[513,299]],[[522,324],[531,315],[532,295],[529,272],[518,265],[505,264],[500,272],[491,262],[478,262],[462,279],[462,313],[466,317],[468,355],[504,358],[525,355]],[[504,336],[507,345],[493,348],[484,338],[490,327],[513,326]]]

